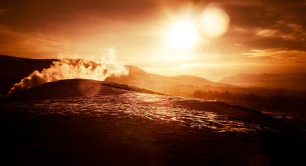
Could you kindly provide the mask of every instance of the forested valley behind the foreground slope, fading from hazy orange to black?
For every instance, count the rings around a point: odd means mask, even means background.
[[[147,87],[148,88],[148,87]],[[256,111],[287,113],[289,118],[306,115],[306,91],[245,88],[226,85],[155,84],[153,91],[186,98],[218,100]]]

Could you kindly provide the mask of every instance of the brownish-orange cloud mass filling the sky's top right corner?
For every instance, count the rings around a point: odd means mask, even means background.
[[[306,50],[305,1],[228,1],[223,4],[230,16],[228,42],[243,49]]]

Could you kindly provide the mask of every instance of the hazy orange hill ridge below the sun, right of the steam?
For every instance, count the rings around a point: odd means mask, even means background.
[[[180,96],[186,96],[186,94],[192,93],[194,89],[203,89],[208,86],[236,87],[230,84],[212,82],[203,77],[196,77],[193,75],[164,76],[147,73],[136,66],[126,66],[126,68],[129,70],[128,75],[107,77],[105,81],[129,84],[159,93]]]

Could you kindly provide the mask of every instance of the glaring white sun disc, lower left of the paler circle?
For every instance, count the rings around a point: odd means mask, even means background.
[[[198,42],[196,25],[187,19],[173,22],[168,32],[168,43],[171,48],[192,48]]]

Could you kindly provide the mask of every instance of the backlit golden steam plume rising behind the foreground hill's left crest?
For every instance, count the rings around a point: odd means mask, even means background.
[[[128,70],[117,61],[116,50],[108,48],[106,52],[103,50],[103,56],[101,57],[91,56],[87,59],[58,59],[53,61],[51,66],[44,68],[41,73],[34,71],[28,77],[22,79],[21,82],[14,84],[8,95],[57,80],[84,78],[103,81],[111,75],[127,74]]]

